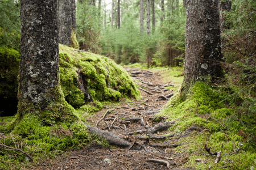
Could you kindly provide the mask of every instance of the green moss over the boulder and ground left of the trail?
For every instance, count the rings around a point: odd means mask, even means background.
[[[42,143],[38,146],[41,149],[33,154],[35,163],[51,158],[54,154],[64,150],[84,147],[93,141],[109,146],[105,139],[89,134],[85,126],[82,125],[82,121],[85,121],[85,117],[90,113],[101,109],[102,103],[106,101],[117,102],[122,97],[133,97],[134,99],[140,97],[137,86],[129,74],[112,59],[64,45],[59,45],[59,49],[60,84],[55,88],[59,95],[58,101],[52,104],[51,109],[38,112],[38,114],[35,112],[35,114],[16,114],[14,117],[3,117],[5,122],[0,125],[0,131],[5,133],[6,138],[9,138],[6,144],[11,147],[15,147],[18,142],[27,143],[27,146],[23,145],[23,150],[31,147],[28,149],[30,151],[35,150],[35,147]],[[6,49],[2,54],[5,54],[5,51]],[[16,53],[18,54],[15,51]],[[15,58],[15,56],[12,57]],[[17,59],[19,60],[19,56]],[[19,63],[18,61],[10,62],[10,66],[12,64],[15,64],[13,66],[15,74],[11,75],[11,80],[15,82]],[[4,69],[3,71],[6,72]],[[10,70],[7,71],[10,72]],[[18,88],[18,86],[15,87]],[[28,113],[29,105],[24,109]],[[61,118],[60,115],[62,115]],[[6,124],[7,119],[9,121]],[[9,125],[12,128],[9,128]],[[10,139],[10,134],[7,134],[10,129],[13,129],[11,134],[17,137],[14,140],[16,143]],[[1,143],[4,142],[3,138],[0,140]],[[4,149],[0,148],[0,150]],[[30,161],[24,154],[19,154],[14,159],[8,153],[14,154],[13,151],[7,151],[6,154],[0,155],[0,159],[3,160],[0,162],[2,168],[11,168],[14,164],[23,167],[23,164],[27,165]],[[42,154],[45,155],[43,158]]]

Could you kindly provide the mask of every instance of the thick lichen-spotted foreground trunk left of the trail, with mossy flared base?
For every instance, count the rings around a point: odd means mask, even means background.
[[[49,117],[61,121],[63,114],[75,112],[60,87],[57,18],[55,0],[20,1],[19,104],[12,126],[26,115],[35,114],[49,123]],[[69,113],[65,118],[71,121]]]

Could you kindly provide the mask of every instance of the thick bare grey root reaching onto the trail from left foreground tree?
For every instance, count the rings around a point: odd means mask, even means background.
[[[108,140],[109,144],[112,145],[117,145],[117,146],[125,146],[125,147],[130,147],[132,144],[129,141],[125,141],[124,139],[118,137],[117,135],[114,135],[110,133],[109,131],[104,131],[101,129],[98,129],[96,127],[87,125],[84,123],[84,125],[92,132],[95,134],[100,135],[102,138],[105,138]]]

